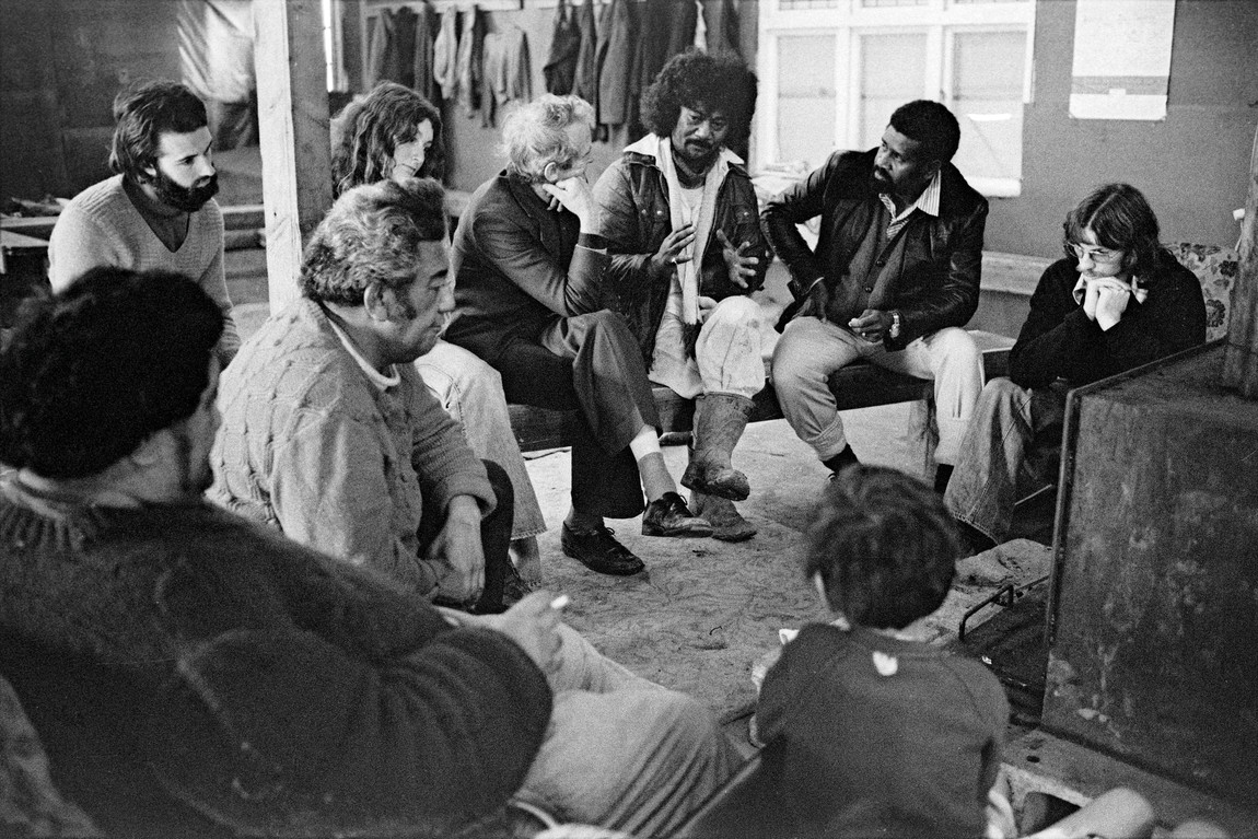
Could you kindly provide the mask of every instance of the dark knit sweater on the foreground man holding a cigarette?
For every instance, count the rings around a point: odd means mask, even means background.
[[[507,636],[196,499],[0,483],[0,634],[108,835],[447,835],[520,786],[551,711]]]

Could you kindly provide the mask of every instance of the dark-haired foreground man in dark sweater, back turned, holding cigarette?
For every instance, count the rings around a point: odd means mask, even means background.
[[[454,836],[513,791],[667,835],[733,771],[711,714],[550,594],[438,610],[206,504],[221,314],[186,278],[96,269],[26,317],[0,352],[0,675],[107,835]]]

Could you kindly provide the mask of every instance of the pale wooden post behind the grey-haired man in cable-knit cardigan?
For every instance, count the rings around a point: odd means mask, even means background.
[[[320,0],[254,0],[270,311],[298,296],[302,245],[332,205]]]

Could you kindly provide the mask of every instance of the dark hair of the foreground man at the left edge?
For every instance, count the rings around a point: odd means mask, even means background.
[[[93,268],[30,301],[0,351],[0,462],[83,478],[192,415],[223,312],[165,270]]]

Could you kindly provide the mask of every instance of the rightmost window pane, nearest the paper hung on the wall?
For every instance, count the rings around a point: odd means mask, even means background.
[[[1021,177],[1021,31],[956,33],[952,112],[961,123],[954,162],[971,177]]]

